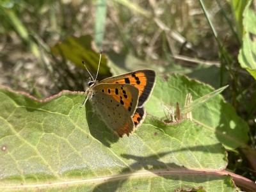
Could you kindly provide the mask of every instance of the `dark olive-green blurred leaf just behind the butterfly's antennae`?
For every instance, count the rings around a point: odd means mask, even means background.
[[[90,72],[97,71],[99,64],[99,52],[95,52],[92,49],[92,36],[69,36],[63,42],[51,47],[53,54],[61,56],[63,60],[69,60],[75,63],[79,67],[84,67],[82,61],[84,61],[86,67]],[[102,54],[100,61],[100,76],[111,76],[109,68],[106,65],[107,60],[105,54]]]

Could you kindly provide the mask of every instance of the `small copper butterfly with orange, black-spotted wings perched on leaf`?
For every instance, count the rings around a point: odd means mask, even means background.
[[[101,54],[102,50],[100,58]],[[89,88],[85,92],[87,96],[81,108],[87,100],[90,100],[93,109],[109,129],[115,131],[120,137],[124,134],[129,136],[145,118],[143,104],[154,88],[156,73],[148,69],[136,70],[98,82],[96,79],[99,65],[95,79],[86,68],[92,81],[88,83]]]

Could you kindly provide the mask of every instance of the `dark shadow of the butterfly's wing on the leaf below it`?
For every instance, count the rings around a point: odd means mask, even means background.
[[[111,131],[100,119],[100,116],[93,111],[90,102],[86,102],[86,120],[90,134],[103,145],[106,145],[106,147],[111,147],[111,143],[115,143],[119,140],[120,137],[115,132]]]

